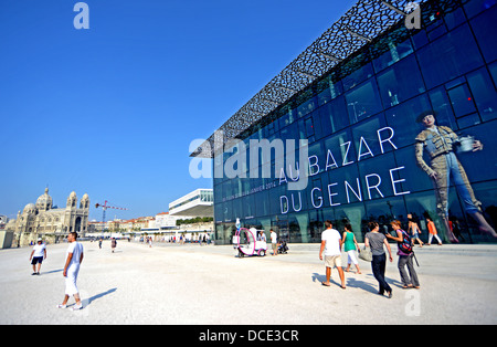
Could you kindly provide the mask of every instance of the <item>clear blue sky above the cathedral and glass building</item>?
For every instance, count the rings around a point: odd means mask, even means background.
[[[49,185],[155,215],[210,179],[189,175],[208,138],[355,0],[0,1],[0,214]]]

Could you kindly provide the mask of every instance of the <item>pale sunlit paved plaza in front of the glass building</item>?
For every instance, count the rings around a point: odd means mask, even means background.
[[[59,309],[67,244],[47,246],[40,276],[31,248],[0,251],[0,324],[496,324],[497,245],[415,248],[421,290],[402,290],[388,262],[391,299],[376,294],[370,263],[346,273],[347,290],[325,287],[319,244],[289,244],[288,254],[237,259],[232,246],[119,241],[83,242],[78,277],[84,309]],[[396,246],[392,244],[393,254]],[[342,256],[346,264],[347,256]],[[74,301],[70,301],[70,306]]]

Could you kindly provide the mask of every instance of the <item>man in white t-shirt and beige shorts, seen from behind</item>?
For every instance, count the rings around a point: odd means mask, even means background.
[[[343,269],[341,269],[341,236],[338,230],[332,229],[329,220],[325,222],[326,230],[321,233],[321,248],[319,250],[319,259],[322,260],[325,253],[326,282],[321,282],[325,286],[330,286],[331,269],[337,266],[340,275],[341,288],[345,290]]]

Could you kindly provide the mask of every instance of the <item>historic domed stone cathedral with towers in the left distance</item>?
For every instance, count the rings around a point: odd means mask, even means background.
[[[28,245],[38,238],[54,243],[72,231],[85,233],[88,229],[88,194],[85,193],[77,203],[76,193],[73,191],[65,208],[54,208],[46,188],[36,203],[28,203],[22,213],[18,212],[15,220],[9,221],[7,229],[14,232],[14,244]]]

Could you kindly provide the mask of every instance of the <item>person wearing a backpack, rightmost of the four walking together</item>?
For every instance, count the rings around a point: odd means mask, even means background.
[[[414,270],[414,264],[412,259],[414,257],[414,252],[412,251],[411,238],[409,234],[402,229],[402,224],[400,221],[394,220],[390,223],[393,230],[396,232],[396,236],[392,236],[387,234],[387,238],[390,240],[396,241],[399,255],[399,263],[396,266],[399,267],[399,273],[402,281],[402,287],[406,288],[420,288],[420,281],[417,280],[416,271]],[[409,276],[405,272],[405,266],[409,270]]]

